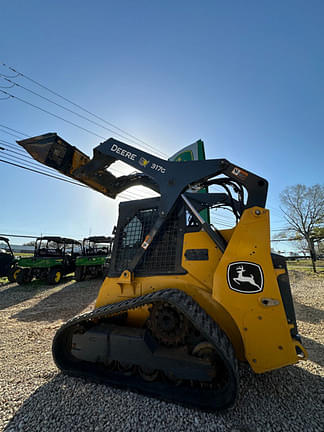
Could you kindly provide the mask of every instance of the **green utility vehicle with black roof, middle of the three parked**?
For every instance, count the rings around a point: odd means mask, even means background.
[[[19,285],[36,279],[57,284],[62,276],[75,270],[75,260],[81,243],[65,237],[39,237],[35,242],[33,257],[20,258],[16,281]]]

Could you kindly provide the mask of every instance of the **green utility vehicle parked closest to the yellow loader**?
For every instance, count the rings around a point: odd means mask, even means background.
[[[75,262],[75,279],[82,281],[86,276],[97,277],[108,270],[113,237],[93,236],[83,239],[82,255]]]

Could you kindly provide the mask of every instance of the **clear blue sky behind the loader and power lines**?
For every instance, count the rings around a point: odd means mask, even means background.
[[[203,139],[207,158],[268,179],[277,230],[286,226],[282,189],[323,183],[323,19],[324,3],[316,0],[12,0],[1,6],[0,62],[167,155]],[[2,66],[0,73],[13,75]],[[75,109],[23,77],[15,81]],[[0,79],[0,86],[9,83]],[[3,87],[120,139],[21,88]],[[30,136],[57,132],[88,154],[102,141],[12,98],[0,100],[0,124]],[[15,139],[0,130],[0,140]],[[0,185],[1,233],[82,238],[110,234],[117,220],[115,201],[3,163]]]

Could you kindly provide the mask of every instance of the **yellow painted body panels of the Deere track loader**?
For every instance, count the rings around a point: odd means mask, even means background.
[[[307,358],[305,348],[293,339],[292,325],[282,302],[277,277],[285,269],[275,269],[270,254],[269,211],[253,207],[244,211],[235,228],[221,231],[228,241],[221,253],[204,232],[184,234],[182,267],[185,275],[134,277],[125,270],[119,278],[106,277],[96,308],[150,292],[176,288],[190,295],[225,331],[236,355],[246,360],[256,373],[277,369]],[[189,261],[187,249],[207,248],[209,259]],[[232,262],[253,262],[263,271],[262,292],[242,293],[230,289],[227,278]],[[128,313],[132,325],[143,325],[147,308]],[[297,354],[296,347],[301,354]]]

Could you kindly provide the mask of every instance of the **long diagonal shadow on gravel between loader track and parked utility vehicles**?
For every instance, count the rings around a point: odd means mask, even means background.
[[[19,321],[67,321],[90,305],[97,297],[101,280],[74,282],[21,310],[12,318]]]

